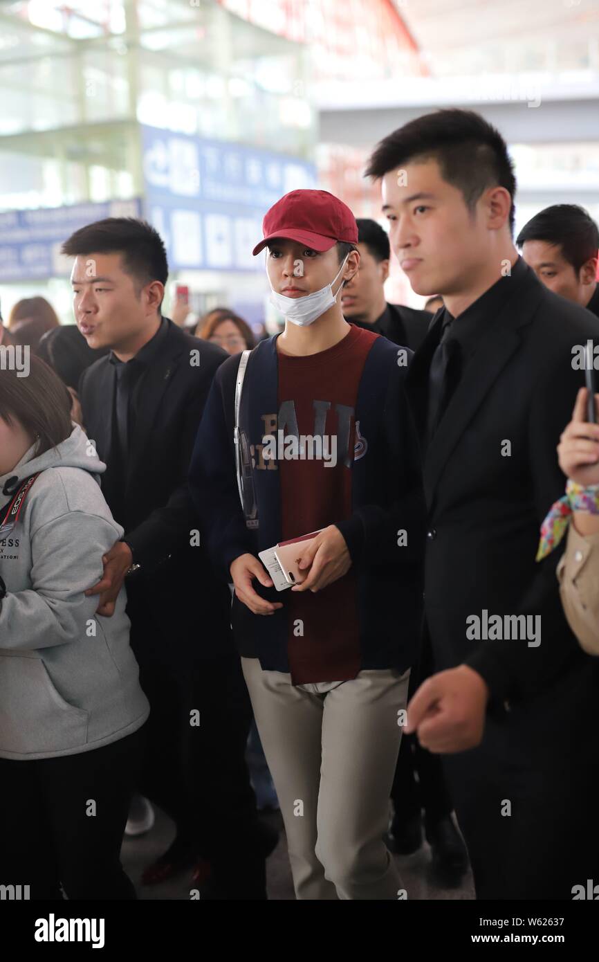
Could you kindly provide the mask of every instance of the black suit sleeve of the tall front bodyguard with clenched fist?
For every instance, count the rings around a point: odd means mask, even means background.
[[[567,355],[567,356],[566,356]],[[581,372],[571,367],[569,347],[561,363],[537,378],[528,423],[529,465],[535,493],[538,527],[551,505],[562,496],[565,477],[558,463],[560,435],[572,417]],[[556,569],[563,544],[537,564],[535,577],[516,615],[540,616],[540,645],[526,641],[487,641],[466,664],[487,682],[491,696],[509,699],[535,694],[551,683],[580,655],[562,611]]]

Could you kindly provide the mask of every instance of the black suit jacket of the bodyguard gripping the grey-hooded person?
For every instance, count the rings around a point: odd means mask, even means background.
[[[206,654],[206,646],[216,650],[223,634],[229,635],[231,596],[216,581],[203,547],[190,544],[199,521],[187,471],[212,377],[228,355],[171,320],[167,323],[159,357],[140,386],[122,482],[120,466],[112,459],[115,370],[108,356],[87,367],[79,393],[87,435],[107,464],[103,493],[141,566],[127,579],[133,626],[138,631],[143,622],[148,646],[150,635],[159,647],[167,635],[173,653],[198,648],[203,640],[198,653]],[[199,365],[192,364],[197,358]]]

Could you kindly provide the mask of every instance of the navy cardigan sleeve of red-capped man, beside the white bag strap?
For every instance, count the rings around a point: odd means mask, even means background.
[[[226,371],[219,370],[214,378],[189,469],[189,490],[201,519],[205,546],[213,567],[228,581],[231,563],[254,551],[237,491],[234,418],[228,417],[234,411],[238,363],[239,358],[235,366],[228,363]],[[227,377],[223,377],[225,373]]]

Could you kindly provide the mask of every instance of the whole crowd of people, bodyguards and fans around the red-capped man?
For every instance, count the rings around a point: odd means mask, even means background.
[[[76,324],[0,324],[32,351],[0,374],[0,883],[32,899],[135,899],[155,805],[143,882],[202,899],[267,898],[266,803],[297,899],[402,898],[423,836],[477,899],[599,880],[597,226],[514,241],[473,112],[366,175],[388,231],[325,190],[264,215],[273,337],[163,316],[162,239],[118,217],[62,245]]]

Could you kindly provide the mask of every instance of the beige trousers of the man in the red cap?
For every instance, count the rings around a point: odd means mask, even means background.
[[[397,899],[383,841],[410,671],[294,686],[241,658],[287,833],[297,899]]]

